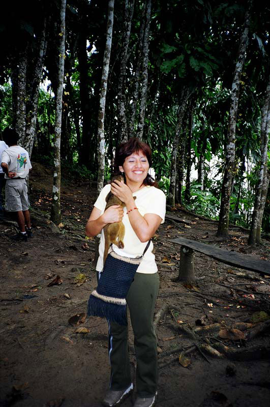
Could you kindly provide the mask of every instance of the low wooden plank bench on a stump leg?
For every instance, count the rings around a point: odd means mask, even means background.
[[[220,249],[213,245],[207,245],[205,243],[181,237],[166,239],[166,241],[181,245],[179,280],[194,280],[194,251],[206,254],[207,256],[215,258],[229,266],[270,276],[270,261],[254,259],[246,254]]]

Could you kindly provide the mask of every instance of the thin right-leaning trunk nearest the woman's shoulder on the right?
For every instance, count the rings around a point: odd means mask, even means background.
[[[169,196],[168,196],[168,204],[171,207],[175,206],[175,181],[176,181],[176,158],[177,158],[177,151],[178,151],[178,142],[179,142],[179,134],[182,128],[185,107],[187,100],[190,96],[190,91],[187,88],[184,88],[181,93],[180,98],[180,105],[178,108],[178,118],[177,123],[175,126],[175,134],[172,142],[172,154],[171,154],[171,173],[170,173],[170,188],[169,188]]]

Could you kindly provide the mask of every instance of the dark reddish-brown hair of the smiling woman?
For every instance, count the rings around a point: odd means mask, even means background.
[[[152,166],[151,148],[148,146],[148,144],[140,141],[138,138],[132,137],[128,141],[119,144],[119,146],[116,147],[113,164],[113,175],[120,175],[121,171],[119,170],[119,166],[122,167],[127,157],[129,157],[133,153],[138,153],[139,151],[141,151],[147,158],[150,168]],[[155,187],[158,186],[157,181],[155,181],[154,178],[151,177],[151,175],[149,174],[147,174],[146,178],[143,181],[143,184]]]

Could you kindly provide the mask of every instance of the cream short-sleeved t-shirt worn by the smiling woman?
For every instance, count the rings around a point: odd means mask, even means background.
[[[106,196],[111,190],[110,184],[106,185],[94,206],[101,211],[101,215],[104,213],[106,207]],[[153,213],[159,215],[162,219],[161,223],[164,223],[165,220],[165,213],[166,213],[166,196],[164,192],[156,187],[145,186],[142,189],[133,193],[133,196],[136,196],[135,205],[138,208],[139,213],[144,216],[147,213]],[[127,214],[127,208],[124,207],[124,216],[122,222],[125,225],[125,237],[124,237],[124,249],[119,249],[114,244],[112,245],[112,249],[126,257],[137,257],[141,256],[147,243],[142,243],[138,236],[136,235],[135,231],[133,230],[129,216]],[[101,239],[99,245],[99,258],[96,270],[102,271],[103,269],[103,253],[104,253],[104,245],[105,245],[105,237],[104,231],[102,229],[101,232]],[[158,271],[156,261],[155,261],[155,254],[152,253],[153,251],[153,242],[150,243],[148,249],[146,250],[143,259],[137,269],[138,273],[145,273],[145,274],[152,274]]]

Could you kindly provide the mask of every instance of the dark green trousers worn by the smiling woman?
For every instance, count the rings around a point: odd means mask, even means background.
[[[158,385],[157,337],[153,326],[158,289],[158,273],[136,273],[127,295],[137,360],[137,393],[140,397],[154,396]],[[108,324],[110,388],[118,391],[128,388],[132,381],[128,354],[128,327],[114,322]]]

